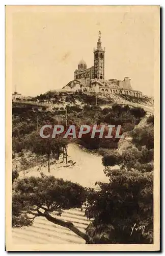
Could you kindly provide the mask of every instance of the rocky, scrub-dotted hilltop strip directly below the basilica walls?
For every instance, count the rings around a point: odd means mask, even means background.
[[[135,98],[128,95],[117,95],[117,94],[94,94],[94,93],[72,93],[65,91],[49,91],[45,94],[38,95],[37,97],[17,97],[13,101],[34,103],[38,105],[47,105],[53,107],[65,107],[66,105],[113,105],[117,104],[134,104],[153,106],[153,99],[147,96],[143,98]]]

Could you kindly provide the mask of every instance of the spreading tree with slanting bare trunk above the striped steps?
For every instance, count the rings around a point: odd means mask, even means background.
[[[56,179],[54,176],[30,177],[17,180],[12,195],[12,226],[32,225],[37,217],[67,227],[86,243],[90,238],[73,223],[58,218],[65,209],[79,208],[86,201],[87,190],[77,183]],[[52,217],[51,213],[57,217]]]

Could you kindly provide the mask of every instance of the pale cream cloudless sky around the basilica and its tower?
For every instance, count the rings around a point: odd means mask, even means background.
[[[74,79],[80,59],[93,66],[101,31],[105,79],[131,78],[154,94],[154,12],[133,7],[26,7],[12,14],[12,90],[36,96]]]

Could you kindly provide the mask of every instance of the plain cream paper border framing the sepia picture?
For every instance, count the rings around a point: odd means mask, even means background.
[[[19,245],[12,243],[12,15],[15,12],[154,12],[154,244]],[[6,250],[156,251],[160,249],[160,7],[159,6],[6,6]]]

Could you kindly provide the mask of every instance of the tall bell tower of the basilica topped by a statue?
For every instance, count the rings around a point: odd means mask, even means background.
[[[104,57],[105,48],[101,47],[101,32],[99,31],[99,37],[97,41],[97,48],[94,48],[94,78],[104,79]]]

